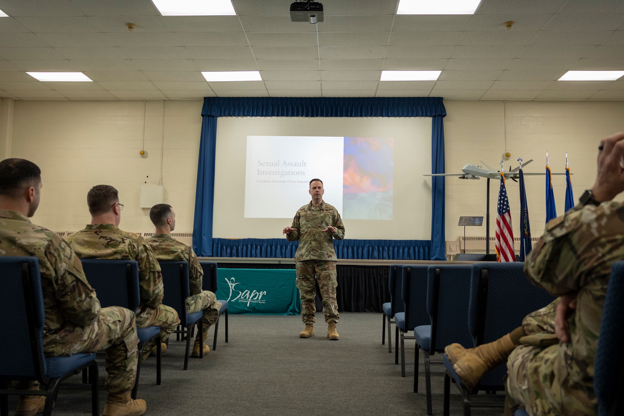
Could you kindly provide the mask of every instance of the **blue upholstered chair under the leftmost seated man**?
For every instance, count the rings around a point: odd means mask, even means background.
[[[8,395],[44,395],[44,415],[52,414],[54,400],[63,380],[89,368],[91,412],[99,414],[99,389],[95,354],[46,357],[42,332],[46,312],[41,290],[39,260],[36,257],[0,257],[0,317],[11,328],[10,342],[0,342],[0,414],[9,414]],[[37,380],[41,390],[7,389],[11,380]]]

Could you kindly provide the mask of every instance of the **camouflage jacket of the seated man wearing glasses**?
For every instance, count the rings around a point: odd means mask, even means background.
[[[162,304],[163,285],[160,265],[143,237],[120,230],[113,224],[88,224],[67,237],[67,242],[81,259],[137,260],[141,302],[137,316],[145,307]]]

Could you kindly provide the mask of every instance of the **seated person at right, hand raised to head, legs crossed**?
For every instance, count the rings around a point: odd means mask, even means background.
[[[624,259],[624,133],[598,147],[598,174],[580,204],[550,220],[524,265],[530,282],[558,296],[490,344],[446,347],[466,387],[507,362],[505,414],[596,415],[593,374],[611,265]]]

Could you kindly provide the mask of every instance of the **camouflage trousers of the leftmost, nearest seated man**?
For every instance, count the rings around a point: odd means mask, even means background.
[[[60,342],[44,344],[47,357],[104,350],[105,388],[109,393],[132,390],[137,375],[137,329],[134,312],[119,306],[100,310],[100,317],[88,327],[68,323],[59,332]],[[15,389],[39,390],[39,382],[13,382]]]

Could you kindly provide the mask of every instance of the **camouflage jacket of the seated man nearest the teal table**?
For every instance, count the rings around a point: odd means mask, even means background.
[[[157,260],[178,260],[188,262],[188,283],[190,295],[202,293],[203,269],[197,254],[189,246],[169,234],[154,234],[145,240],[152,247]]]

